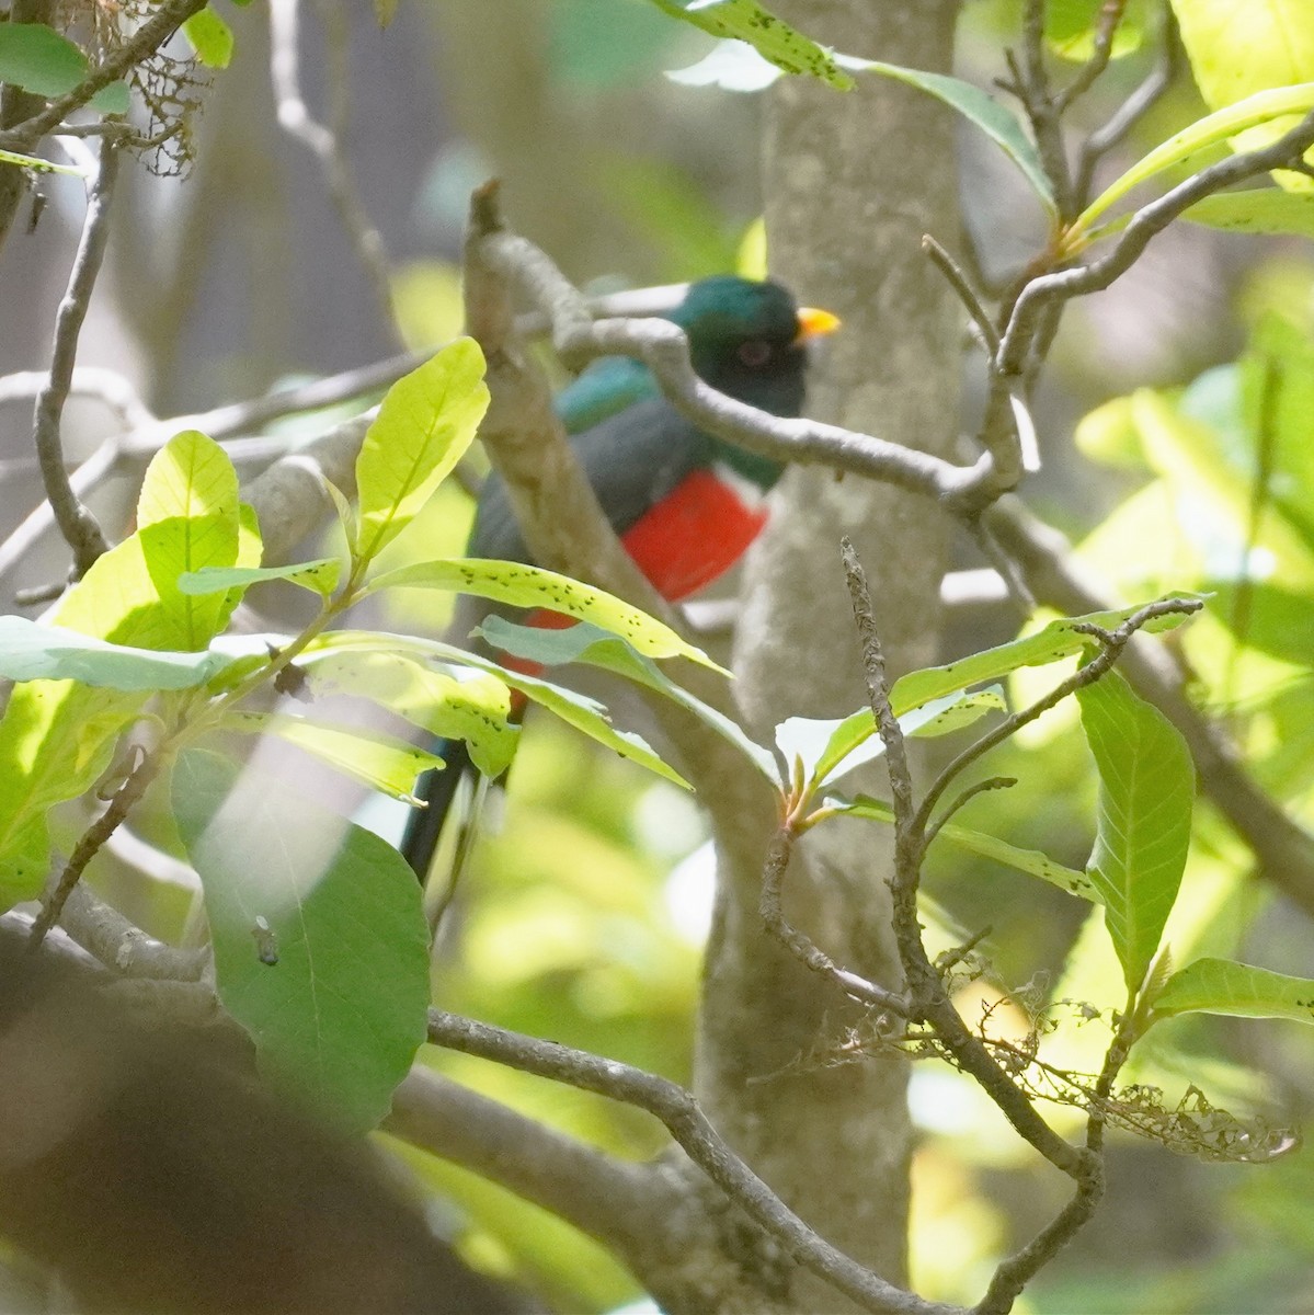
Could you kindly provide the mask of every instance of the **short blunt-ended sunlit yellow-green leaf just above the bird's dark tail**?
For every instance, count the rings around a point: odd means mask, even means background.
[[[485,776],[501,776],[520,743],[510,693],[484,672],[462,675],[466,679],[430,671],[395,652],[343,652],[318,661],[309,684],[316,697],[368,698],[433,735],[466,740],[475,767]]]

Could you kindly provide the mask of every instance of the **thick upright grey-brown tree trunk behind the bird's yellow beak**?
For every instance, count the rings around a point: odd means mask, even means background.
[[[844,53],[950,68],[956,0],[780,0],[775,9]],[[788,78],[771,92],[764,192],[772,272],[844,322],[812,375],[809,409],[940,455],[952,450],[959,423],[959,321],[919,243],[923,233],[956,237],[956,176],[950,113],[902,84],[865,78],[840,93]],[[787,715],[842,717],[864,702],[842,534],[871,576],[892,673],[935,660],[947,518],[902,492],[793,471],[750,562],[737,644],[738,694],[759,739]],[[808,1223],[902,1281],[905,1065],[881,1056],[777,1073],[838,1041],[859,1015],[762,932],[766,832],[750,839],[746,827],[737,830],[721,836],[698,1094]],[[869,825],[847,822],[809,834],[787,878],[787,913],[837,961],[894,984],[887,840]],[[847,1308],[808,1276],[794,1276],[789,1297],[798,1310]]]

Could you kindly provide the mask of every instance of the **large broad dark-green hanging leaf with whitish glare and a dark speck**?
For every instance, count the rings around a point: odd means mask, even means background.
[[[425,1039],[429,932],[414,873],[376,835],[214,753],[184,752],[172,792],[224,1007],[262,1070],[335,1123],[374,1127]]]

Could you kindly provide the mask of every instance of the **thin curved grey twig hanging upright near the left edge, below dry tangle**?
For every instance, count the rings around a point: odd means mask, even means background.
[[[118,172],[118,143],[107,138],[100,147],[100,168],[87,197],[87,218],[82,241],[74,258],[68,291],[59,302],[55,317],[55,341],[50,356],[50,381],[37,396],[33,417],[33,443],[41,459],[41,477],[46,497],[54,510],[59,530],[72,548],[74,568],[84,575],[92,562],[109,546],[100,525],[79,500],[64,469],[61,418],[72,385],[74,362],[78,356],[78,335],[87,318],[100,264],[109,235],[109,204]]]

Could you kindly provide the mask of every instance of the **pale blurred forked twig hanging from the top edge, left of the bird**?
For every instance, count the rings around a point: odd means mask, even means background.
[[[334,96],[334,126],[320,122],[309,110],[301,95],[297,55],[297,22],[300,0],[270,0],[270,76],[278,101],[279,124],[297,141],[308,146],[324,170],[329,195],[355,247],[356,258],[370,280],[375,300],[383,312],[389,334],[400,345],[397,310],[392,297],[392,277],[388,251],[383,234],[370,218],[346,153],[342,149],[342,120],[346,117],[347,79],[345,70],[346,33],[339,22],[329,24],[329,46],[335,64],[329,76]],[[341,17],[341,16],[339,16]]]

